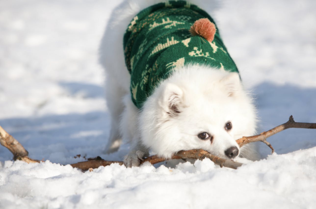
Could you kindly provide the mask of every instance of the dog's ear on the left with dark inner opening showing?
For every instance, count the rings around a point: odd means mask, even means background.
[[[175,84],[167,84],[160,98],[160,106],[170,116],[176,116],[181,113],[183,103],[183,91]]]

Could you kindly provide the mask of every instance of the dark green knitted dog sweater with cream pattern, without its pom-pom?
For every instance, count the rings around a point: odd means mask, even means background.
[[[191,36],[190,27],[201,18],[208,18],[215,24],[204,10],[186,1],[158,3],[133,18],[123,45],[131,74],[131,97],[136,107],[141,108],[155,87],[174,69],[186,64],[238,72],[217,27],[212,42]]]

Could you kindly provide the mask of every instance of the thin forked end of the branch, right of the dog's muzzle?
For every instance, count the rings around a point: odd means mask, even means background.
[[[307,129],[316,129],[316,123],[299,123],[299,122],[295,122],[293,119],[293,116],[291,115],[289,117],[289,121],[286,123],[283,123],[282,125],[278,125],[276,127],[274,127],[273,129],[270,129],[269,131],[264,131],[259,135],[256,136],[243,136],[240,139],[237,139],[236,142],[238,143],[238,145],[240,147],[244,146],[245,144],[248,144],[250,142],[264,142],[266,145],[268,145],[271,150],[272,153],[274,152],[274,148],[272,147],[272,145],[267,142],[266,138],[280,132],[283,131],[285,129],[288,128],[307,128]]]

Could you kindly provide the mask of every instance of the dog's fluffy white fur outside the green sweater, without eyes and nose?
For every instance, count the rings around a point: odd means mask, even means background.
[[[159,0],[125,1],[111,16],[100,46],[100,62],[106,69],[106,101],[111,113],[111,133],[106,153],[118,150],[121,138],[131,142],[125,165],[137,166],[149,149],[171,157],[179,150],[201,148],[227,158],[225,150],[238,147],[236,139],[256,129],[256,110],[243,90],[237,73],[204,66],[176,69],[138,110],[131,101],[130,74],[125,67],[123,34],[131,19]],[[216,2],[191,1],[209,14]],[[232,129],[225,130],[230,121]],[[213,139],[197,135],[209,133]],[[255,160],[255,149],[244,146],[242,156]]]

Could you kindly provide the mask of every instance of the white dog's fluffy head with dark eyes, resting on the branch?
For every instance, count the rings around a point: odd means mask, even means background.
[[[143,143],[171,157],[204,149],[223,158],[239,155],[236,139],[255,132],[255,108],[238,73],[188,66],[174,71],[144,103]]]

